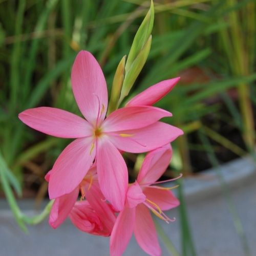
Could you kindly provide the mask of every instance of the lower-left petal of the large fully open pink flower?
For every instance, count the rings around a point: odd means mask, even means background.
[[[95,158],[91,137],[76,139],[61,152],[49,180],[50,199],[73,191],[87,174]]]

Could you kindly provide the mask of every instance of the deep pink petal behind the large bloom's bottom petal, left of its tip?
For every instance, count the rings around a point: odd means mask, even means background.
[[[116,216],[112,207],[106,202],[105,197],[101,193],[98,181],[94,180],[91,185],[89,184],[89,187],[84,190],[84,194],[92,208],[97,212],[105,228],[111,233]]]

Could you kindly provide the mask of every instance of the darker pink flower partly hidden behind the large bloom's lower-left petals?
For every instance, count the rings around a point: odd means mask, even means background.
[[[51,171],[46,175],[49,181]],[[81,192],[81,199],[77,197]],[[116,221],[115,211],[102,195],[96,175],[96,167],[92,167],[86,177],[71,193],[56,198],[49,216],[49,224],[57,228],[69,216],[73,224],[84,232],[99,236],[110,236]]]

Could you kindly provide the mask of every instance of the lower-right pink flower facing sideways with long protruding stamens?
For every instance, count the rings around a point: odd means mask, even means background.
[[[141,166],[138,179],[131,184],[126,195],[126,203],[117,217],[110,239],[110,254],[121,255],[134,232],[140,247],[150,255],[161,255],[157,232],[150,210],[160,219],[170,220],[163,210],[179,205],[179,200],[169,188],[154,184],[167,168],[172,149],[170,145],[148,153]],[[152,185],[153,184],[153,185]]]

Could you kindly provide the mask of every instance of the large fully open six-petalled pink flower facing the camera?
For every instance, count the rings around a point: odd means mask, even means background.
[[[143,102],[141,106],[130,103],[104,120],[108,108],[106,82],[97,60],[87,51],[78,53],[71,80],[76,102],[87,120],[48,107],[29,109],[19,114],[20,120],[35,130],[56,137],[77,138],[62,151],[53,165],[49,197],[53,199],[71,193],[96,161],[103,195],[117,210],[121,210],[128,174],[119,151],[151,151],[175,140],[183,132],[158,121],[172,116],[171,113],[146,106]],[[144,95],[152,94],[154,92],[148,91]]]

